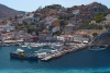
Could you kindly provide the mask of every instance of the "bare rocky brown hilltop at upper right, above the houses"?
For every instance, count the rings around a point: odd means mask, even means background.
[[[107,12],[108,8],[105,4],[92,2],[89,4],[74,5],[68,8],[68,13],[73,13],[74,10],[79,10],[80,14],[96,14],[98,12]]]

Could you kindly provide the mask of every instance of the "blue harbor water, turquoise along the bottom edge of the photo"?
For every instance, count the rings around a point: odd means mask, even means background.
[[[0,47],[0,73],[94,73],[110,72],[110,49],[78,50],[62,58],[42,62],[10,59],[18,46]],[[28,48],[24,48],[28,49]],[[38,49],[38,48],[34,48]],[[31,52],[32,49],[30,49]]]

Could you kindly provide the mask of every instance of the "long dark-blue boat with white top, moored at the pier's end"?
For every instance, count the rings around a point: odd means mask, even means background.
[[[10,52],[10,58],[19,59],[19,60],[37,60],[37,56],[33,54],[24,54],[24,50],[16,49],[15,52]]]

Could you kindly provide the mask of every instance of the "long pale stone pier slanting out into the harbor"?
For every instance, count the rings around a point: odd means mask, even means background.
[[[41,59],[41,61],[50,61],[50,60],[53,60],[53,59],[57,59],[57,58],[59,58],[59,57],[63,57],[64,54],[67,54],[67,53],[70,53],[70,52],[74,52],[74,51],[84,49],[84,48],[86,48],[86,47],[87,47],[86,44],[74,45],[74,46],[70,46],[70,47],[67,48],[67,49],[62,50],[62,51],[57,51],[57,52],[55,52],[55,53],[45,56],[44,58]]]

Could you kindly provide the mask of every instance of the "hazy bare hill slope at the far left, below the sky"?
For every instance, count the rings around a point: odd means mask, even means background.
[[[0,4],[0,17],[11,17],[18,14],[21,14],[22,12],[13,10],[11,8],[8,8],[3,4]]]

